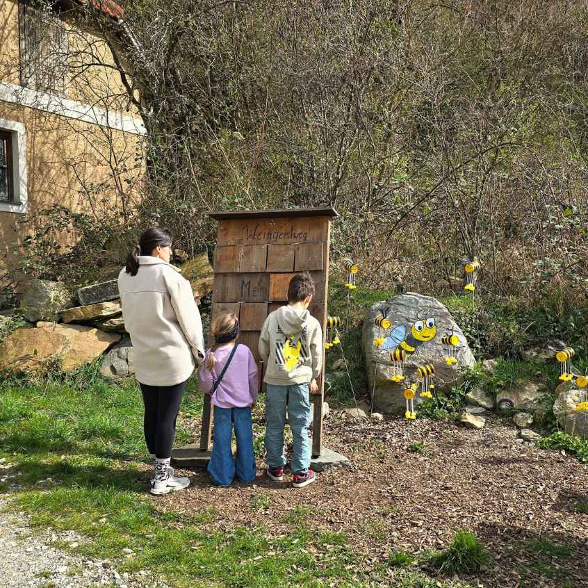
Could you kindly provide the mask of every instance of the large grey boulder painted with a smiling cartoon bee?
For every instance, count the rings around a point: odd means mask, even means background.
[[[384,315],[390,322],[387,329],[382,329],[375,323],[377,317]],[[364,320],[362,345],[366,356],[369,392],[373,391],[373,405],[380,412],[405,413],[403,387],[391,380],[395,375],[391,352],[400,344],[397,343],[398,337],[394,335],[403,330],[405,346],[414,347],[414,352],[409,354],[403,366],[407,379],[414,376],[419,366],[433,364],[435,390],[448,391],[461,381],[461,368],[475,365],[475,358],[462,329],[439,300],[409,292],[391,297],[386,302],[377,302],[370,308]],[[452,354],[457,362],[452,365],[446,362],[446,345],[441,342],[446,334],[455,334],[459,339]],[[375,345],[377,338],[380,341],[384,338],[384,343]],[[420,400],[417,393],[414,398],[415,406]]]

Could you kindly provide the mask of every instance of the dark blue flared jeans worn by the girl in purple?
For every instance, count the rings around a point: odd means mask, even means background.
[[[231,450],[231,433],[235,427],[237,455]],[[251,408],[214,407],[214,438],[209,474],[218,486],[229,486],[235,475],[240,482],[253,482],[256,475],[253,454]]]

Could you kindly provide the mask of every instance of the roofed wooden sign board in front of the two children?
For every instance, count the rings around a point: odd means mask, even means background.
[[[257,343],[268,313],[288,303],[288,284],[298,272],[310,272],[316,293],[311,314],[322,326],[323,343],[329,291],[329,238],[332,208],[273,211],[218,212],[218,238],[214,256],[214,288],[211,321],[220,313],[234,312],[241,323],[239,342],[253,352],[263,382],[264,366]],[[323,357],[323,370],[324,370]],[[322,400],[313,397],[313,456],[322,450]],[[205,400],[210,402],[210,397]],[[200,448],[209,450],[211,409],[204,406]]]

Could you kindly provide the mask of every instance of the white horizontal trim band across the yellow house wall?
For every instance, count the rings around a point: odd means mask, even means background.
[[[23,88],[9,82],[0,81],[0,100],[74,120],[91,122],[125,133],[133,133],[133,135],[145,135],[145,125],[139,118],[124,116],[121,113],[107,111],[106,108],[89,106],[76,100],[68,100],[47,92]]]

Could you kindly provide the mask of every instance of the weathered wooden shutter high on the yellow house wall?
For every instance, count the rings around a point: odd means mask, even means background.
[[[35,5],[20,1],[21,85],[65,95],[67,83],[67,29],[57,3]]]

